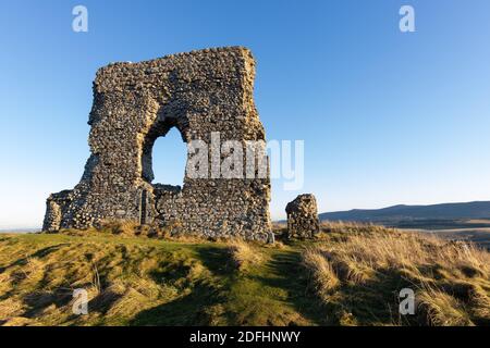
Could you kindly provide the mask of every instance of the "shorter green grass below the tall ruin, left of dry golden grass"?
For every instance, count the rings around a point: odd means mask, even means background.
[[[264,262],[237,270],[224,243],[1,235],[0,323],[323,324],[304,296],[298,250],[254,248]],[[72,314],[75,288],[88,289],[88,315]]]

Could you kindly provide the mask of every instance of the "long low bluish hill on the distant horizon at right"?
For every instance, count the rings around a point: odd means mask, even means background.
[[[400,226],[411,222],[490,219],[490,201],[433,206],[393,206],[322,213],[321,221],[373,222]]]

